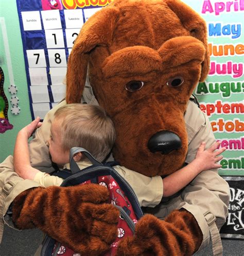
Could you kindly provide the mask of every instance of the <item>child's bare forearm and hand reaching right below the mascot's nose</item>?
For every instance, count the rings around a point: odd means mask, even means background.
[[[203,170],[220,168],[217,162],[223,157],[219,156],[226,148],[219,147],[220,142],[216,142],[212,147],[205,150],[205,143],[202,142],[195,159],[185,167],[177,170],[163,179],[163,197],[171,196],[190,183]]]

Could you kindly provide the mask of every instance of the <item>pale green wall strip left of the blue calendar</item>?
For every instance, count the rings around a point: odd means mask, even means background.
[[[20,23],[15,1],[0,0],[0,66],[4,72],[4,92],[8,99],[8,120],[12,129],[0,133],[0,162],[12,155],[17,132],[31,122]],[[18,89],[20,113],[11,113],[10,84]]]

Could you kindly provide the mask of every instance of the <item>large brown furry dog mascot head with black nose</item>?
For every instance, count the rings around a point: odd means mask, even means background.
[[[208,73],[205,22],[178,0],[115,0],[82,27],[68,59],[67,103],[89,77],[115,124],[114,157],[146,176],[184,163],[184,112]]]

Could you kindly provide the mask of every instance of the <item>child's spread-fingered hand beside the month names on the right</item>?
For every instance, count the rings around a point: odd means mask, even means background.
[[[223,156],[219,155],[225,151],[226,148],[222,147],[217,149],[220,143],[221,142],[216,142],[208,149],[205,149],[205,142],[201,143],[195,157],[195,161],[198,162],[201,170],[209,170],[222,167],[221,164],[218,164],[218,161],[220,161]]]

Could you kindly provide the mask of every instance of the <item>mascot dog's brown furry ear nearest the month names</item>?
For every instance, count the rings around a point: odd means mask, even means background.
[[[179,0],[164,0],[164,2],[176,13],[182,25],[189,30],[190,36],[202,41],[205,46],[205,58],[202,62],[201,77],[199,79],[200,82],[203,82],[210,71],[210,56],[208,52],[207,28],[205,21],[200,18],[198,13]]]

